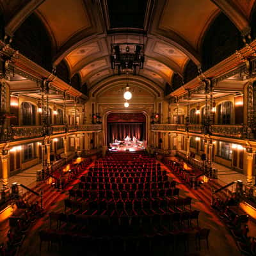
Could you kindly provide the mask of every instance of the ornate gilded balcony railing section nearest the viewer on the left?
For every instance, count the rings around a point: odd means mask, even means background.
[[[13,140],[35,138],[43,135],[42,125],[13,126],[11,131]]]

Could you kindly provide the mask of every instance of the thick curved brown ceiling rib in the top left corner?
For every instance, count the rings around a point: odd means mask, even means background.
[[[19,26],[33,13],[38,6],[44,3],[45,0],[30,0],[23,8],[17,12],[5,26],[5,33],[13,36]]]

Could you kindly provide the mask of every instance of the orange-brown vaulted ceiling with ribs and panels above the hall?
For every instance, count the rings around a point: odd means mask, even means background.
[[[201,65],[202,40],[218,13],[225,13],[244,33],[250,29],[254,3],[255,0],[0,0],[0,8],[10,36],[31,13],[36,13],[51,37],[53,66],[64,60],[70,77],[78,73],[82,84],[86,83],[92,92],[99,84],[108,86],[108,81],[120,79],[111,69],[111,44],[144,44],[144,68],[136,76],[129,74],[129,80],[141,77],[140,81],[147,81],[152,88],[164,90],[173,74],[183,76],[189,60]]]

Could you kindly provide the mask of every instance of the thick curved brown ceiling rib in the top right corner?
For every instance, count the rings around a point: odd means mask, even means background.
[[[227,0],[211,0],[220,10],[227,15],[227,17],[234,23],[234,25],[241,31],[243,36],[250,33],[251,28],[248,20],[243,15],[241,10],[238,10],[236,6],[232,5]]]

